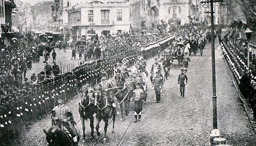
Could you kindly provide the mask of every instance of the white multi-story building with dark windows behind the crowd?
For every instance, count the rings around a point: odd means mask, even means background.
[[[129,32],[129,3],[124,0],[99,0],[69,7],[67,27],[72,28],[76,39],[87,33],[117,34]],[[72,3],[72,2],[71,2]],[[66,26],[66,21],[64,26]]]

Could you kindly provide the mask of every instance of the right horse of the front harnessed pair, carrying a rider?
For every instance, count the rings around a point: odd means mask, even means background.
[[[97,123],[96,123],[96,131],[97,135],[100,136],[101,133],[99,132],[99,123],[101,120],[104,121],[105,126],[104,126],[104,139],[103,142],[106,142],[106,134],[107,134],[107,129],[108,129],[108,121],[111,117],[113,117],[113,130],[112,133],[114,133],[114,123],[116,120],[116,111],[114,108],[109,104],[109,101],[106,96],[108,93],[105,95],[103,94],[102,91],[94,91],[93,92],[93,97],[95,99],[94,105],[97,106],[96,109],[96,118],[97,118]]]

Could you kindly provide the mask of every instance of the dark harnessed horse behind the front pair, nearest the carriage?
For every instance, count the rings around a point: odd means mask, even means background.
[[[114,85],[116,85],[116,87],[123,87],[122,89],[119,89],[119,88],[113,89],[114,95],[116,96],[120,104],[120,110],[121,110],[120,121],[123,121],[123,118],[124,118],[123,111],[125,112],[125,115],[128,116],[129,99],[131,98],[132,92],[133,92],[132,82],[128,78],[127,79],[124,78],[127,76],[129,75],[126,73],[123,76],[120,73],[116,73],[114,76],[114,79],[115,79]],[[122,103],[124,103],[124,109],[123,109]]]

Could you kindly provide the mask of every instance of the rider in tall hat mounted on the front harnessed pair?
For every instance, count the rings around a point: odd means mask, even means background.
[[[111,82],[109,80],[107,80],[107,78],[108,78],[108,74],[106,72],[102,72],[101,73],[101,82],[99,84],[102,90],[113,87],[113,85],[111,84]],[[112,92],[110,92],[109,95],[110,96],[108,96],[108,97],[110,99],[110,103],[111,103],[112,107],[116,110],[116,114],[119,115],[118,109],[116,107],[116,105],[117,105],[116,96],[114,96],[114,94]]]

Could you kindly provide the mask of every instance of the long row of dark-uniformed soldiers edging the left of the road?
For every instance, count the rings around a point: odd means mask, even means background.
[[[41,82],[25,82],[23,88],[6,85],[1,88],[0,97],[0,135],[7,137],[17,135],[21,127],[29,127],[30,123],[50,114],[56,99],[65,97],[65,101],[74,98],[82,85],[90,83],[91,86],[99,82],[102,72],[112,77],[120,62],[127,67],[132,66],[137,58],[137,48],[122,51],[111,57],[106,57],[80,65],[72,71],[48,78]],[[143,53],[152,57],[156,49]]]

